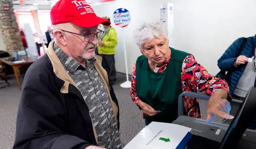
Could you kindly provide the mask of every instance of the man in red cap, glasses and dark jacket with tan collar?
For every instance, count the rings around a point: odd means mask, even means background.
[[[122,148],[118,102],[94,56],[97,27],[110,22],[85,1],[60,0],[50,17],[55,41],[25,75],[14,149]]]

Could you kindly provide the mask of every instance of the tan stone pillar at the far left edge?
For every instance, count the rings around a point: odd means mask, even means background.
[[[9,6],[9,10],[3,10],[2,6]],[[13,51],[24,50],[12,2],[0,2],[0,21],[2,37],[6,46],[6,51],[13,53]],[[2,45],[1,45],[2,46]]]

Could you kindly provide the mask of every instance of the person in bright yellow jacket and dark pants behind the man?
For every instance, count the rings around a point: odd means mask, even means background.
[[[102,17],[110,21],[109,17]],[[117,36],[112,26],[103,25],[104,35],[98,42],[98,55],[102,57],[102,67],[107,71],[110,83],[116,84],[116,68],[114,55],[116,53]]]

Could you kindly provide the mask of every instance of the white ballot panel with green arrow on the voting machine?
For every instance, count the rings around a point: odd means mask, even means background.
[[[124,149],[180,149],[191,130],[182,125],[151,122]]]

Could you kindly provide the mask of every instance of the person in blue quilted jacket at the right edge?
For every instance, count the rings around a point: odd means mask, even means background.
[[[240,55],[237,57],[240,46],[245,42]],[[218,67],[222,71],[230,71],[228,85],[230,87],[230,96],[237,100],[244,100],[249,89],[256,87],[256,35],[253,37],[244,37],[236,39],[226,49],[224,54],[218,60]],[[232,107],[231,113],[235,114],[238,107]],[[256,117],[248,126],[250,129],[256,129]]]

